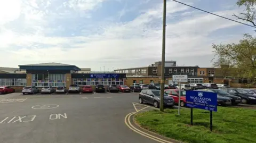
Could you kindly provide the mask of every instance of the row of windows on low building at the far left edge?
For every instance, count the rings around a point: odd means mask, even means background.
[[[26,86],[26,79],[0,79],[0,86]]]

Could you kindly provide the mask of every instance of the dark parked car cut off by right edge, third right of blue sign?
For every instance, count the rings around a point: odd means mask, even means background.
[[[237,88],[222,88],[221,90],[228,92],[231,95],[239,96],[242,98],[243,104],[256,104],[256,96],[249,94],[243,89]]]

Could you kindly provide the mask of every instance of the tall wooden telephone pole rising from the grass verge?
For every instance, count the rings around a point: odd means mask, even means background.
[[[164,10],[163,10],[163,41],[162,41],[163,45],[162,45],[160,111],[164,111],[165,28],[166,28],[166,0],[164,0]]]

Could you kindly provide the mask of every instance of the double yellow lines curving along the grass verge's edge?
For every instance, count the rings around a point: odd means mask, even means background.
[[[157,142],[161,142],[161,143],[174,143],[174,142],[171,142],[171,141],[167,141],[167,140],[164,140],[164,139],[161,139],[161,138],[158,138],[158,137],[155,137],[151,134],[148,134],[146,132],[143,132],[137,128],[135,128],[132,123],[131,123],[131,116],[136,114],[136,112],[132,112],[132,113],[129,113],[125,116],[125,119],[124,119],[124,123],[127,125],[127,127],[129,127],[131,130],[133,130],[134,132],[137,132],[139,134],[141,134],[142,136],[144,137],[147,137],[147,138],[150,138],[150,139],[153,139]]]

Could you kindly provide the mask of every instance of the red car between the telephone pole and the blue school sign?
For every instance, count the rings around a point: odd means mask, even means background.
[[[174,99],[175,104],[179,104],[179,89],[166,89],[165,94],[171,96]],[[181,90],[180,95],[180,106],[185,107],[186,105],[186,90]]]

